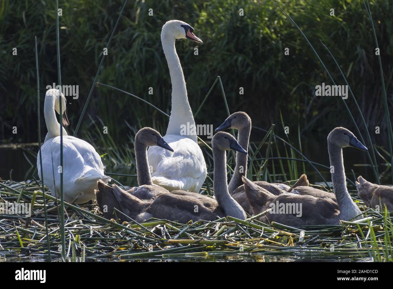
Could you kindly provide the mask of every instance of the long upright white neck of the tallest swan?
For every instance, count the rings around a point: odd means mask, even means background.
[[[182,66],[174,46],[175,39],[167,35],[163,30],[161,42],[172,82],[172,109],[166,134],[180,135],[182,125],[187,126],[188,123],[188,125],[195,126],[194,116],[187,98],[187,88]],[[196,135],[186,135],[185,137],[191,138],[195,142],[197,141]]]

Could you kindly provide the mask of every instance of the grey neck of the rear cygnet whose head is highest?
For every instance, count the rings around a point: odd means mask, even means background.
[[[237,133],[237,142],[246,151],[248,151],[248,142],[250,141],[250,133],[251,133],[251,123],[247,127],[239,129]],[[228,185],[229,193],[233,193],[233,191],[237,187],[243,184],[242,176],[246,176],[246,175],[247,175],[247,155],[237,151],[235,170],[233,171],[233,176]]]

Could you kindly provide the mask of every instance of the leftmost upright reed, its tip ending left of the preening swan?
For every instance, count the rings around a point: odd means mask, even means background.
[[[37,36],[34,37],[35,40],[35,66],[37,71],[37,118],[38,118],[38,146],[39,146],[39,155],[40,155],[40,169],[41,169],[41,184],[42,191],[44,191],[44,171],[42,169],[42,156],[41,156],[41,120],[40,120],[40,74],[39,74],[39,65],[38,65],[38,50],[37,50]],[[17,202],[20,201],[20,198],[23,195],[23,188],[20,191],[20,195],[18,197]],[[46,244],[48,245],[48,261],[51,261],[50,254],[50,244],[49,244],[49,235],[48,235],[48,214],[46,212],[46,200],[44,199],[44,216],[45,216],[45,232],[46,232]]]

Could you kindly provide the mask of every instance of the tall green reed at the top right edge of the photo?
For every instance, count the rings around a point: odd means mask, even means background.
[[[374,36],[374,41],[375,41],[375,46],[379,50],[378,46],[378,40],[376,39],[376,33],[375,33],[375,27],[374,27],[374,22],[373,22],[373,17],[371,16],[371,9],[369,5],[369,1],[367,0],[367,6],[363,0],[364,6],[366,8],[367,14],[370,19],[371,23],[371,28],[373,29],[373,36]],[[387,133],[389,134],[388,140],[389,140],[389,150],[390,150],[390,162],[391,165],[393,166],[393,130],[392,130],[392,125],[390,122],[390,114],[389,114],[389,107],[387,105],[387,96],[386,96],[386,87],[385,87],[385,81],[384,81],[384,72],[382,70],[382,61],[381,61],[381,55],[378,53],[378,64],[379,64],[379,69],[380,69],[380,74],[381,74],[381,87],[382,87],[382,98],[384,101],[384,111],[385,111],[385,118],[386,118],[386,125],[387,125]],[[351,91],[352,93],[352,91]],[[391,178],[393,182],[393,170],[391,172]]]

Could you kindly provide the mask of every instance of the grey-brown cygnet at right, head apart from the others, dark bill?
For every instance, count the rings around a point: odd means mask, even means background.
[[[264,194],[269,199],[264,207],[259,208],[259,210],[255,209],[254,214],[263,212],[267,208],[279,203],[285,205],[301,205],[302,214],[296,217],[296,214],[290,214],[289,212],[285,214],[268,212],[261,218],[261,221],[274,221],[289,226],[330,225],[339,223],[340,220],[349,221],[355,217],[361,217],[360,209],[352,201],[346,186],[342,148],[348,146],[367,150],[364,145],[358,142],[353,133],[343,127],[336,127],[329,133],[328,150],[330,164],[334,169],[332,171],[332,183],[335,199],[331,195],[328,195],[327,192],[317,191],[309,187],[298,187],[294,189],[294,191],[298,191],[297,194],[284,193],[272,199],[272,195],[267,193],[266,190],[257,188],[259,194]],[[255,184],[246,178],[243,178],[243,182],[248,201],[255,201]]]

